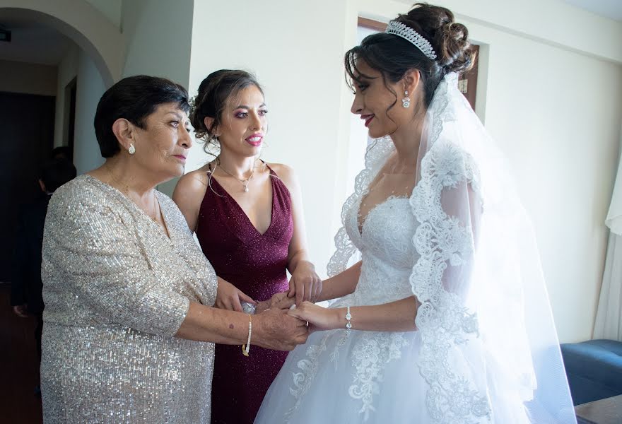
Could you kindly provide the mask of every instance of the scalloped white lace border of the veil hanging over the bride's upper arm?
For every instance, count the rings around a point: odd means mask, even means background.
[[[419,226],[413,245],[419,254],[411,273],[413,294],[421,305],[421,374],[430,385],[426,403],[443,423],[471,423],[489,416],[485,394],[459,370],[461,345],[477,336],[476,315],[467,297],[482,204],[473,160],[452,143],[438,142],[421,161],[421,181],[411,196]],[[461,408],[452,404],[459,402]]]

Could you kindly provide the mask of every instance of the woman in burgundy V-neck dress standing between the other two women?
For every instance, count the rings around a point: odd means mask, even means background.
[[[184,175],[173,200],[224,280],[216,305],[242,311],[248,302],[259,313],[284,297],[278,293],[315,301],[322,281],[307,257],[293,170],[258,159],[267,129],[259,83],[245,71],[213,72],[191,113],[196,137],[216,158]],[[216,345],[211,422],[252,423],[286,355],[253,346],[245,356],[240,346]]]

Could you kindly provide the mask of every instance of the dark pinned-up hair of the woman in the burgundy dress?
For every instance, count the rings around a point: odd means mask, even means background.
[[[196,94],[190,114],[190,123],[194,126],[196,138],[205,141],[205,153],[213,154],[209,150],[210,144],[218,146],[218,140],[214,137],[213,131],[222,123],[223,110],[227,106],[227,101],[248,86],[255,86],[264,94],[257,78],[252,73],[240,69],[214,71],[201,81],[199,93]],[[214,119],[209,128],[205,126],[206,117]]]

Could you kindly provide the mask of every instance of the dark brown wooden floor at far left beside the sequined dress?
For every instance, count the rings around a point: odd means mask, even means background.
[[[35,396],[35,320],[13,314],[11,286],[0,283],[0,422],[40,424],[41,398]]]

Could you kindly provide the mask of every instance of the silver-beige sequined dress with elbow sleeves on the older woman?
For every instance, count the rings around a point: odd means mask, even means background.
[[[172,337],[216,274],[156,192],[170,239],[83,175],[52,196],[42,252],[45,423],[209,423],[213,343]]]

